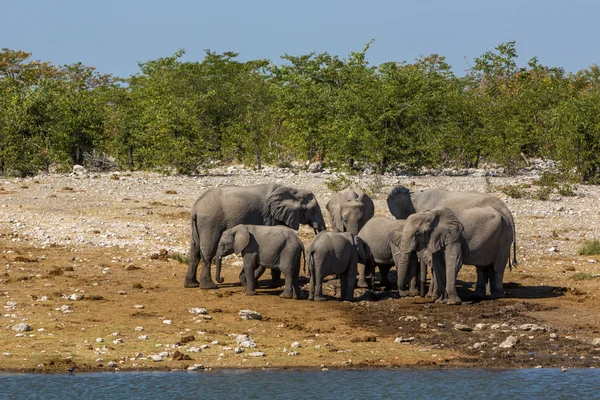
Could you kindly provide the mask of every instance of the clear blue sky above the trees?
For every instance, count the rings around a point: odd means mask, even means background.
[[[120,77],[138,61],[185,49],[234,51],[240,60],[328,52],[346,58],[371,39],[371,64],[437,53],[463,75],[473,58],[517,42],[569,72],[600,64],[596,0],[2,0],[0,47],[55,64],[81,61]]]

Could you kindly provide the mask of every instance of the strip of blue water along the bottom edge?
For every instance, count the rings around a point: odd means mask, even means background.
[[[0,374],[2,399],[593,399],[599,390],[596,369]]]

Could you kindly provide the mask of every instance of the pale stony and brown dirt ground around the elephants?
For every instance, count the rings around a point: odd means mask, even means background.
[[[236,257],[224,263],[219,289],[183,288],[187,265],[169,255],[187,253],[189,210],[202,191],[278,181],[313,190],[325,212],[332,179],[276,169],[0,179],[0,370],[598,365],[600,257],[576,253],[599,235],[597,186],[539,201],[498,190],[532,176],[351,178],[375,193],[378,214],[389,215],[385,198],[396,183],[491,191],[505,200],[517,224],[519,265],[507,269],[501,300],[447,306],[357,290],[356,302],[340,302],[335,279],[326,285],[330,301],[285,300],[282,288],[269,288],[268,273],[258,294],[246,296]],[[312,231],[303,228],[300,237],[308,246]],[[464,266],[463,299],[474,281],[474,268]],[[242,320],[247,309],[262,320]],[[29,330],[20,331],[23,323]],[[240,334],[256,347],[241,347]]]

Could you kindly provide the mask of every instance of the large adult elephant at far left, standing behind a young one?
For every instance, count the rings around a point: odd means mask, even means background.
[[[276,183],[253,186],[221,186],[204,192],[192,207],[190,264],[184,287],[214,289],[210,266],[221,234],[239,224],[287,225],[297,230],[310,225],[315,233],[325,230],[325,220],[315,195]],[[196,270],[202,260],[200,279]]]

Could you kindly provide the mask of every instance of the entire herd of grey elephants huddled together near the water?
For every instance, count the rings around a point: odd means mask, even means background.
[[[485,193],[436,188],[413,192],[398,185],[387,204],[396,219],[375,216],[373,200],[360,190],[338,192],[326,206],[332,227],[328,231],[311,191],[276,183],[209,189],[191,211],[190,264],[184,286],[216,288],[211,277],[213,258],[215,279],[222,283],[222,258],[235,253],[243,256],[240,281],[246,294],[256,294],[258,277],[270,268],[275,287],[284,276],[281,297],[301,298],[304,254],[310,300],[325,300],[323,280],[338,275],[341,299],[352,301],[356,286],[373,287],[377,267],[379,283],[390,289],[388,273],[396,266],[400,296],[425,296],[430,268],[427,295],[438,302],[460,304],[456,278],[463,263],[477,269],[474,298],[484,298],[488,284],[493,299],[504,296],[502,279],[511,265],[511,245],[516,264],[516,230],[502,200]],[[316,234],[306,253],[296,233],[300,224],[311,226]]]

